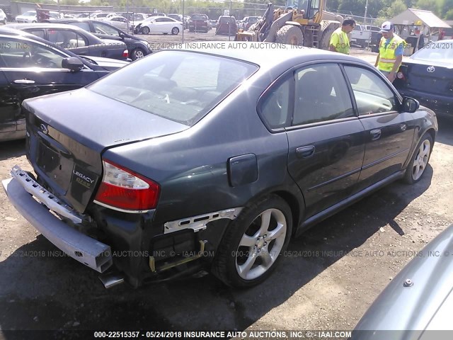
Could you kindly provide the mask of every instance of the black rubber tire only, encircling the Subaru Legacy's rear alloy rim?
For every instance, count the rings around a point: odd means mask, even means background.
[[[271,208],[280,210],[283,215],[285,215],[287,222],[285,243],[283,244],[282,250],[280,251],[280,256],[277,257],[268,271],[253,280],[244,280],[236,271],[236,256],[234,256],[234,254],[238,250],[239,242],[241,242],[243,234],[246,232],[253,220],[255,220],[256,217],[261,214],[261,212]],[[220,275],[217,275],[216,273],[214,273],[214,275],[224,281],[224,283],[226,283],[227,285],[234,287],[249,287],[256,285],[270,276],[270,274],[277,266],[277,263],[280,262],[280,259],[282,257],[281,253],[287,248],[289,239],[291,239],[292,234],[291,209],[289,208],[289,205],[285,202],[285,200],[283,200],[279,196],[266,196],[265,198],[258,200],[256,203],[247,205],[241,212],[239,217],[237,217],[236,220],[231,221],[227,228],[228,229],[225,232],[222,243],[219,246],[219,251],[217,252],[217,256],[221,261],[224,262],[224,266],[222,266],[223,268],[217,268],[220,270]],[[216,261],[214,261],[214,266],[216,264]]]

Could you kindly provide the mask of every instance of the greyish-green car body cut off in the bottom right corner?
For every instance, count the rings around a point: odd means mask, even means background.
[[[351,339],[451,339],[453,225],[391,280],[362,316]],[[404,311],[403,313],[401,311]]]

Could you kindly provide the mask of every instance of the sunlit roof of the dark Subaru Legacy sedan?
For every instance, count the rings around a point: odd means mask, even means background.
[[[223,45],[219,45],[223,44]],[[219,48],[220,46],[226,48]],[[230,57],[245,62],[260,65],[260,67],[273,67],[275,64],[294,64],[313,60],[339,60],[357,62],[369,66],[357,57],[343,55],[342,53],[330,52],[310,47],[296,47],[275,42],[224,42],[203,41],[186,42],[181,50],[202,52],[210,55]],[[263,50],[266,57],[263,58]]]

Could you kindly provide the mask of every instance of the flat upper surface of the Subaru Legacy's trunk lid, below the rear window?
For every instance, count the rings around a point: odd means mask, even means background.
[[[30,98],[23,101],[23,108],[62,135],[99,153],[115,145],[189,128],[88,89]]]

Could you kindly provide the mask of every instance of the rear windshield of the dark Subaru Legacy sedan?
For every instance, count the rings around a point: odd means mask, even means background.
[[[225,57],[167,50],[137,60],[87,89],[192,126],[257,69]]]

